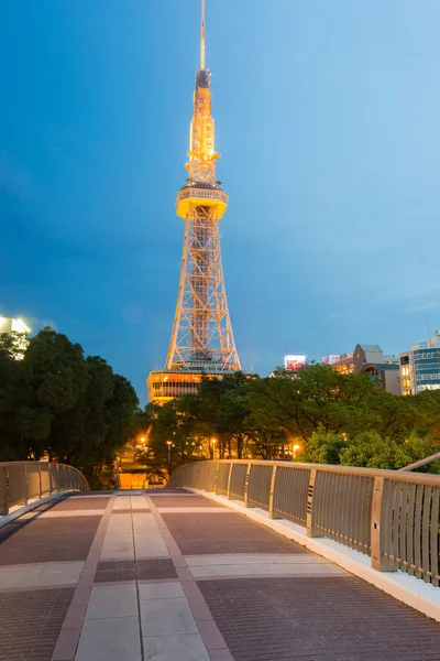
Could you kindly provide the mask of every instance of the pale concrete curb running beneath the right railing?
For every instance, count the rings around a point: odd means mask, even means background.
[[[404,572],[377,572],[371,566],[371,559],[359,551],[343,546],[326,538],[308,538],[305,529],[286,519],[270,519],[268,512],[258,508],[245,508],[243,502],[228,500],[224,496],[216,496],[209,491],[186,487],[189,491],[210,498],[230,509],[244,514],[256,523],[294,540],[314,553],[333,562],[354,576],[363,578],[386,594],[415,608],[419,613],[440,622],[440,588],[424,583]]]

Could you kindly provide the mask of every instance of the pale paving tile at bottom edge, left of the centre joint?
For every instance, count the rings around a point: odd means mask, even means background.
[[[85,620],[75,661],[142,661],[139,618]]]

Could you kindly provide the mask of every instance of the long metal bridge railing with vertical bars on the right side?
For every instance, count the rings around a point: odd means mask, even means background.
[[[440,476],[285,462],[212,460],[179,468],[169,487],[242,500],[439,587]]]

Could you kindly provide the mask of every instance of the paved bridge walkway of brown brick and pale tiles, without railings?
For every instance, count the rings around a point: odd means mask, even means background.
[[[185,491],[79,494],[0,529],[0,661],[440,661],[440,625]]]

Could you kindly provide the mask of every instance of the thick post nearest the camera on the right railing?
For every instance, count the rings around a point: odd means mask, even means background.
[[[372,567],[378,572],[395,572],[397,563],[384,555],[386,551],[386,531],[392,524],[392,508],[384,489],[385,479],[374,478],[372,501],[371,557]]]

